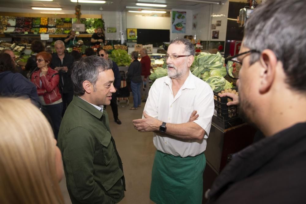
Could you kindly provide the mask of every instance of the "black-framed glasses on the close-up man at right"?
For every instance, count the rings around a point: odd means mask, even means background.
[[[256,49],[251,49],[247,52],[244,53],[239,53],[237,55],[234,55],[232,57],[228,57],[224,60],[225,66],[226,66],[226,73],[234,79],[238,79],[239,78],[239,71],[237,70],[236,65],[242,65],[242,60],[241,61],[237,61],[237,60],[233,60],[235,58],[237,58],[238,56],[247,54],[247,53],[260,53],[260,51],[256,50]]]

